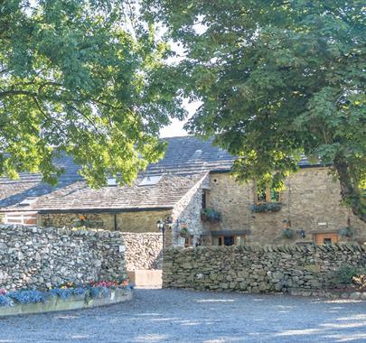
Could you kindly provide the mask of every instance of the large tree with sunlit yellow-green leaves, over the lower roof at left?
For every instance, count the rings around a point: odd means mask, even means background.
[[[68,153],[92,186],[162,156],[177,109],[165,44],[113,0],[0,0],[0,176],[42,172]],[[162,82],[164,79],[164,83]]]

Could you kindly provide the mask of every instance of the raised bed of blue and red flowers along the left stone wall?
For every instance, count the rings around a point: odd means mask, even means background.
[[[126,280],[90,282],[87,285],[65,283],[47,291],[0,290],[0,316],[62,311],[108,305],[132,299],[133,284]]]

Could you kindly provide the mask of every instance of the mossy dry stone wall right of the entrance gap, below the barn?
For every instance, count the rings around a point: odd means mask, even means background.
[[[366,267],[363,246],[198,246],[164,252],[163,287],[287,292],[337,287],[343,264]]]

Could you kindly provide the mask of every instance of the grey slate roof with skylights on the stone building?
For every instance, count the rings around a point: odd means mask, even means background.
[[[0,178],[0,211],[172,209],[207,172],[227,172],[235,160],[211,141],[202,142],[192,136],[165,140],[168,148],[164,159],[150,164],[133,186],[89,189],[69,156],[55,160],[65,171],[56,187],[42,183],[39,173],[22,173],[15,181]],[[155,174],[163,174],[155,185],[138,186],[143,177]],[[35,199],[31,205],[19,205],[30,198]]]

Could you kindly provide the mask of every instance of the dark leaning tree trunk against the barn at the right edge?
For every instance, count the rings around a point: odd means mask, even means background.
[[[336,157],[333,162],[334,168],[338,173],[338,180],[341,185],[341,197],[343,201],[350,206],[352,213],[366,222],[366,209],[362,204],[361,190],[358,185],[352,183],[352,177],[349,165],[342,157]]]

